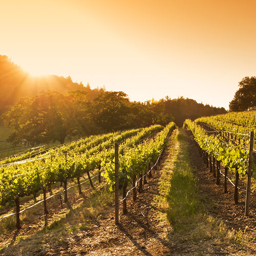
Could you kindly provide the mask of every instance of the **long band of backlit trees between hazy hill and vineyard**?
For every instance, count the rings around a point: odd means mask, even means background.
[[[12,133],[13,144],[39,144],[50,141],[63,143],[67,136],[88,136],[144,127],[165,125],[176,121],[182,125],[185,118],[224,113],[195,100],[170,99],[132,102],[124,92],[101,92],[94,99],[87,92],[71,91],[61,94],[42,91],[33,97],[20,98],[2,115]]]

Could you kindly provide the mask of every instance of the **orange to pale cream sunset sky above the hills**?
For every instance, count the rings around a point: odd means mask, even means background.
[[[0,0],[0,54],[34,75],[228,109],[256,75],[254,0]]]

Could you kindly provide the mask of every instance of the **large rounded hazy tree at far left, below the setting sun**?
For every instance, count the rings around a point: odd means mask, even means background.
[[[13,108],[2,115],[11,127],[9,141],[29,144],[59,141],[75,134],[76,119],[68,97],[54,92],[41,92],[31,98],[20,98]]]

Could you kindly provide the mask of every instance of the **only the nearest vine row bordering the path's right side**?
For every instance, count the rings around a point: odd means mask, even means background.
[[[184,126],[187,130],[191,131],[194,140],[197,143],[201,156],[208,167],[210,164],[210,172],[216,177],[216,184],[220,184],[221,163],[224,166],[224,191],[227,191],[227,172],[235,175],[234,182],[234,202],[238,203],[238,182],[239,176],[247,176],[247,189],[246,189],[246,206],[245,215],[248,215],[249,199],[250,199],[250,182],[251,182],[251,169],[252,169],[252,152],[253,152],[253,132],[250,133],[250,140],[248,148],[234,145],[230,141],[224,143],[222,136],[217,134],[209,135],[207,131],[202,129],[201,122],[193,122],[189,119],[185,120]]]

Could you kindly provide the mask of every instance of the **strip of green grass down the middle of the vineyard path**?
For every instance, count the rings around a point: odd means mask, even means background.
[[[194,169],[188,160],[186,138],[183,133],[178,133],[176,140],[180,143],[180,154],[176,156],[174,171],[170,175],[167,218],[170,223],[175,224],[176,229],[184,231],[198,214],[202,214],[203,207]]]

